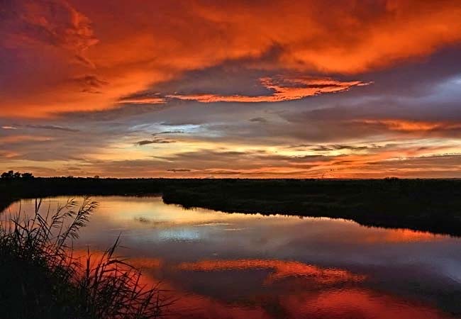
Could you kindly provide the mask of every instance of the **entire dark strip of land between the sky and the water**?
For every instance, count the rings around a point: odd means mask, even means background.
[[[165,203],[187,208],[348,218],[461,235],[460,179],[8,179],[0,180],[0,208],[20,198],[160,193]]]

